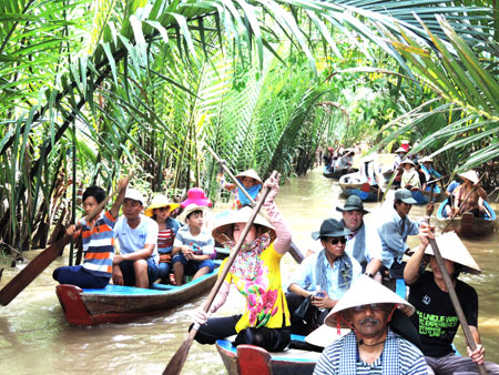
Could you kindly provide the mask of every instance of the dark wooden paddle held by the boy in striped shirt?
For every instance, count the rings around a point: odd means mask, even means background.
[[[133,174],[133,173],[132,173]],[[116,195],[120,191],[115,191],[109,195],[99,205],[86,215],[85,221],[92,221],[99,212],[105,206],[108,201]],[[77,224],[79,226],[80,223]],[[64,233],[64,236],[43,250],[28,265],[18,273],[0,291],[0,304],[7,306],[16,296],[21,293],[50,263],[52,263],[64,251],[65,245],[71,241],[72,236]]]

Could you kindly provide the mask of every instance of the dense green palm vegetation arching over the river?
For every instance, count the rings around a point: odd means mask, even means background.
[[[44,247],[83,186],[131,170],[145,191],[214,196],[204,144],[261,175],[400,138],[449,173],[497,169],[493,7],[1,0],[0,246]]]

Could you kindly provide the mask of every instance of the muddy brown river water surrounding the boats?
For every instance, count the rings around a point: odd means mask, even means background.
[[[276,201],[302,252],[317,250],[310,232],[317,231],[324,219],[337,216],[335,207],[344,203],[339,192],[337,182],[323,178],[318,169],[304,178],[292,179],[281,188]],[[498,211],[496,204],[493,207]],[[374,211],[366,219],[376,220],[379,204],[367,203],[366,209]],[[410,212],[413,219],[422,214],[422,206],[414,206]],[[409,237],[410,245],[417,242],[416,237]],[[486,358],[499,362],[498,233],[465,243],[483,272],[460,278],[471,284],[479,295],[479,331]],[[30,253],[33,254],[29,257],[37,254]],[[287,278],[297,265],[289,255],[285,255],[283,263],[283,277]],[[206,295],[130,324],[73,326],[64,320],[51,277],[55,267],[65,264],[68,252],[8,306],[0,306],[0,374],[161,374],[185,339],[192,312]],[[17,272],[6,267],[0,287]],[[244,301],[232,291],[217,314],[234,314],[243,307]],[[455,344],[466,353],[461,331]],[[225,371],[214,346],[194,343],[183,374],[225,374]]]

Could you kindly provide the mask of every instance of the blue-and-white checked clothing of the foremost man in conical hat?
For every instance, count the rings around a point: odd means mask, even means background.
[[[426,375],[428,371],[422,353],[388,327],[381,356],[373,365],[358,358],[354,332],[328,345],[320,354],[314,375],[333,374]]]

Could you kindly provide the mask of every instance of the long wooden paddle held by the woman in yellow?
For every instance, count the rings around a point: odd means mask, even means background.
[[[272,173],[272,178],[277,178],[278,173],[274,171]],[[228,270],[231,270],[232,264],[234,263],[235,257],[240,253],[241,246],[243,245],[244,240],[246,239],[247,233],[249,232],[253,222],[256,219],[256,215],[259,212],[259,209],[262,209],[262,205],[265,202],[265,199],[267,197],[268,193],[271,192],[271,189],[265,188],[262,192],[262,199],[256,203],[255,207],[253,209],[252,215],[249,216],[246,225],[243,229],[243,232],[241,233],[241,236],[237,241],[237,243],[234,246],[234,250],[231,252],[231,255],[228,256],[227,262],[225,263],[225,266],[223,267],[222,272],[218,275],[218,278],[216,280],[215,285],[213,286],[212,291],[210,292],[210,295],[207,297],[207,301],[204,305],[204,311],[207,313],[210,311],[210,307],[212,306],[213,301],[215,300],[216,294],[218,293],[223,282],[225,281],[225,276],[228,273]],[[166,368],[163,372],[163,375],[179,375],[182,371],[182,367],[184,366],[185,358],[187,357],[189,351],[192,346],[192,342],[194,341],[194,337],[197,333],[197,330],[200,330],[200,325],[197,323],[194,323],[191,332],[187,335],[187,338],[182,343],[182,345],[179,347],[179,349],[175,352],[173,357],[170,359],[169,364],[166,365]]]

